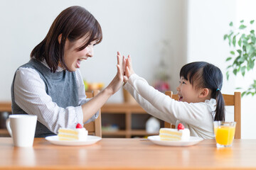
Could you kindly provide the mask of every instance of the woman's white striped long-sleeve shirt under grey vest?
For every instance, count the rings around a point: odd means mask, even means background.
[[[43,62],[46,67],[48,65]],[[49,68],[49,67],[48,67]],[[56,72],[62,72],[58,67]],[[38,121],[45,125],[51,132],[58,133],[58,128],[75,128],[77,123],[81,125],[83,120],[82,104],[89,101],[85,96],[85,86],[83,84],[80,70],[75,72],[78,85],[79,106],[59,107],[46,94],[45,84],[35,69],[20,67],[16,72],[14,80],[14,94],[16,104],[30,115],[37,115]],[[64,91],[63,91],[64,92]],[[36,103],[36,104],[35,104]],[[86,123],[95,120],[98,113],[92,116]]]

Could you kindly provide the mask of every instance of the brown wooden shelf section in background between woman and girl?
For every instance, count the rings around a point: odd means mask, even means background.
[[[102,130],[102,136],[125,136],[130,138],[132,136],[148,136],[158,135],[158,133],[148,133],[146,130],[132,129],[132,115],[133,114],[148,114],[137,103],[106,103],[101,108],[101,113],[124,114],[125,115],[125,130]],[[102,120],[103,121],[103,120]]]

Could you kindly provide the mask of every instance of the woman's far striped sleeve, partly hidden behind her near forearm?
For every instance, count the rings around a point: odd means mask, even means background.
[[[83,82],[82,74],[80,73],[80,69],[77,69],[77,71],[75,72],[75,76],[77,78],[77,84],[78,84],[79,106],[82,106],[84,103],[87,103],[88,101],[90,101],[91,98],[86,98],[85,84]],[[99,111],[97,111],[97,113],[95,113],[95,115],[92,115],[92,118],[87,120],[85,123],[90,123],[90,122],[94,121],[95,119],[97,119],[98,116],[99,116]]]

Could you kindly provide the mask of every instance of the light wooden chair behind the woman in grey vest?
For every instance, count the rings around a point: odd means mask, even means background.
[[[86,92],[87,98],[92,98],[100,93],[99,90],[94,90],[92,92]],[[84,125],[84,128],[88,130],[89,135],[95,135],[102,137],[102,127],[101,127],[101,112],[99,111],[99,117],[94,121]]]

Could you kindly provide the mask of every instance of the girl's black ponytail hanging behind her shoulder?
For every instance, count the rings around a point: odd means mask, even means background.
[[[216,93],[216,109],[215,109],[215,118],[214,120],[225,121],[225,102],[223,95],[220,92],[220,89],[215,91]]]

